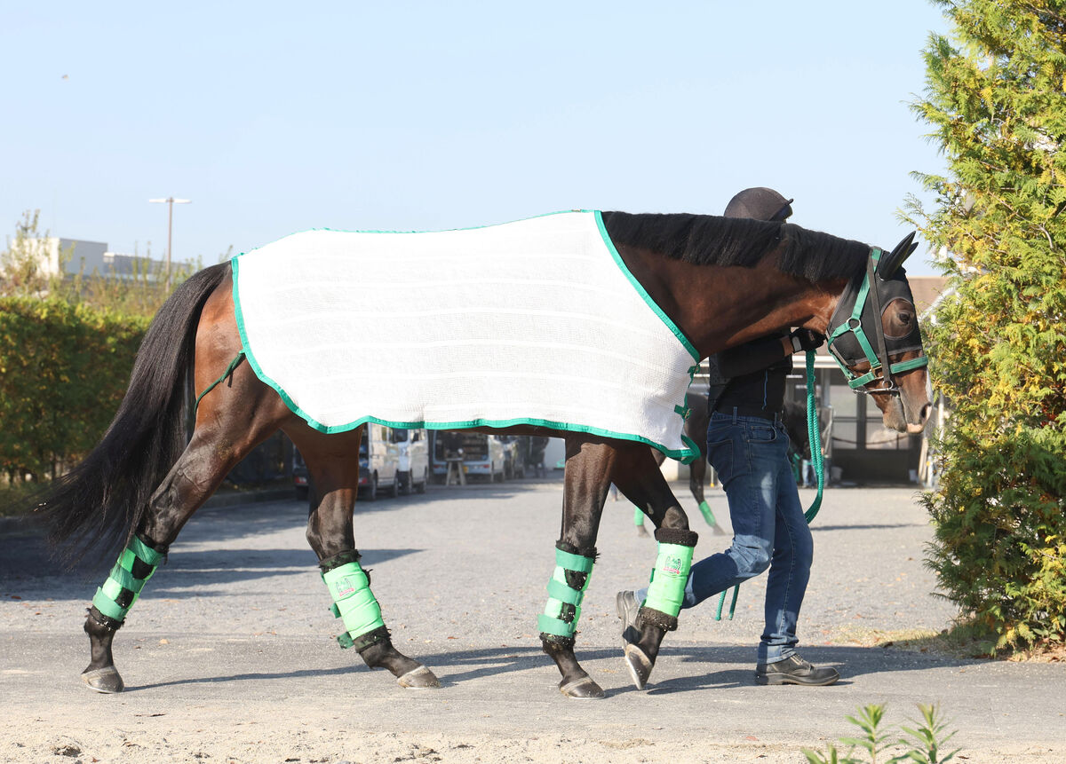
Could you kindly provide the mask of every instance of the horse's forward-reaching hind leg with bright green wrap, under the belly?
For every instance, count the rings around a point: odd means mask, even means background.
[[[359,565],[352,510],[359,485],[359,430],[323,435],[302,422],[286,430],[304,455],[314,484],[307,541],[342,619],[341,647],[355,647],[371,668],[386,668],[404,687],[439,687],[433,671],[395,649]]]

